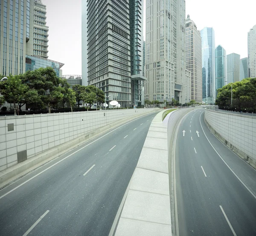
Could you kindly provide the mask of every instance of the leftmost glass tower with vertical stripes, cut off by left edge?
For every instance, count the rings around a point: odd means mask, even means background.
[[[0,1],[0,74],[25,72],[26,51],[32,50],[30,0]],[[31,49],[29,48],[31,46]]]

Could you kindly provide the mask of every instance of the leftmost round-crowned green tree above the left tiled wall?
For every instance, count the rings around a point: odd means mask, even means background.
[[[8,80],[0,83],[0,93],[9,103],[13,103],[14,115],[16,115],[16,103],[24,100],[28,86],[23,84],[20,75],[9,75]]]

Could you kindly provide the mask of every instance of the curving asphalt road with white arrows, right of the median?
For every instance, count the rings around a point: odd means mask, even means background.
[[[176,140],[179,235],[255,236],[256,170],[209,131],[203,112],[186,115]]]

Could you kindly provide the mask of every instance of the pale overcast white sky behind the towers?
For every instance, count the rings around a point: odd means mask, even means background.
[[[63,75],[81,75],[81,1],[42,0],[47,6],[49,59],[65,64]],[[256,25],[255,9],[256,0],[186,0],[186,14],[197,28],[213,27],[215,46],[221,44],[227,54],[235,52],[241,58],[247,57],[247,32]]]

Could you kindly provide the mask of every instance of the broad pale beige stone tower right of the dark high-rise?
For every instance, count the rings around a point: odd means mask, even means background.
[[[190,101],[190,72],[186,70],[185,1],[146,3],[145,98],[184,104]]]

